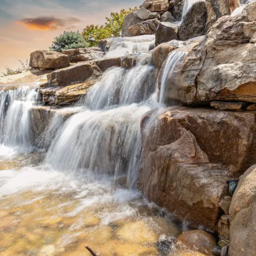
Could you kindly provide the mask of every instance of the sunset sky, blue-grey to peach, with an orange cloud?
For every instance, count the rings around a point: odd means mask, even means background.
[[[143,0],[0,0],[0,72],[16,69],[19,59],[48,49],[64,30],[82,32],[104,24],[112,11],[141,5]]]

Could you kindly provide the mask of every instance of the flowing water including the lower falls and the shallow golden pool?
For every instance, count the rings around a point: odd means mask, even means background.
[[[166,84],[184,54],[169,56]],[[36,143],[36,89],[0,91],[1,255],[183,255],[181,226],[136,189],[141,117],[159,106],[147,63],[110,68],[75,107],[54,110]]]

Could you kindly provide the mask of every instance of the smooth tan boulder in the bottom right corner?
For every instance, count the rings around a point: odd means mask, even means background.
[[[230,205],[230,256],[255,255],[256,166],[240,177]]]

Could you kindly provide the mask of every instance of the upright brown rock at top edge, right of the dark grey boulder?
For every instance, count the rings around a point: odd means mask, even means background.
[[[207,27],[213,26],[218,18],[230,15],[240,6],[240,0],[205,0],[207,6]]]

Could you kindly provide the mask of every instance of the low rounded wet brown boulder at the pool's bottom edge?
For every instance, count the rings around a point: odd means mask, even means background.
[[[203,230],[190,230],[180,234],[177,241],[187,249],[203,253],[203,255],[214,256],[213,247],[216,246],[214,237]]]

